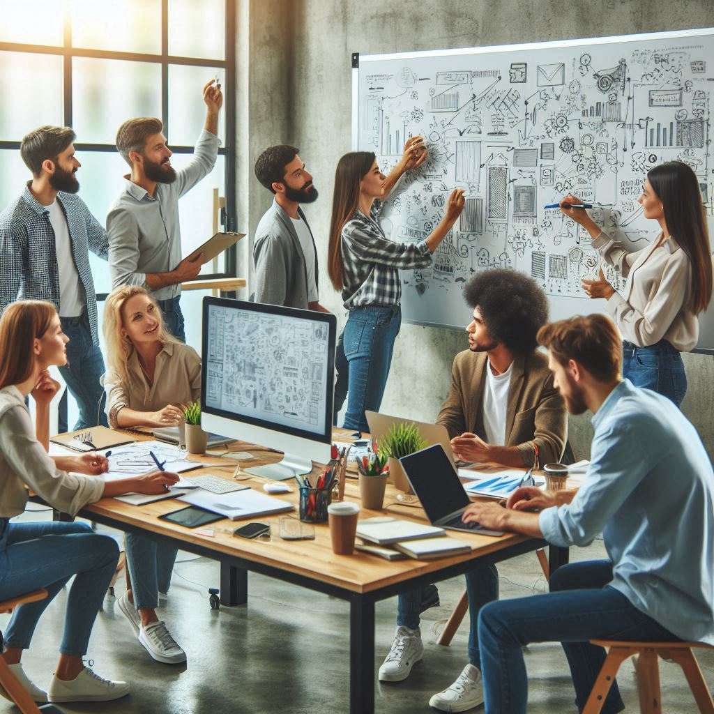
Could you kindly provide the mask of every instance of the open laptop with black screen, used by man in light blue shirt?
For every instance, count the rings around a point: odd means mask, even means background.
[[[479,535],[503,535],[503,531],[488,531],[480,523],[461,521],[471,501],[441,444],[427,446],[399,461],[432,526]]]

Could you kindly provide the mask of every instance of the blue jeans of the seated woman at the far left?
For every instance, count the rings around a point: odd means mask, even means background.
[[[45,588],[49,597],[15,610],[5,644],[26,650],[45,608],[76,574],[67,598],[63,655],[86,655],[89,635],[114,577],[119,547],[86,523],[11,523],[0,518],[0,600]]]

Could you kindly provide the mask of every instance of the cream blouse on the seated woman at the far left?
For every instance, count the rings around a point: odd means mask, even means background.
[[[103,479],[56,467],[36,439],[22,393],[10,386],[0,389],[0,517],[12,518],[25,510],[25,486],[71,516],[104,493]]]

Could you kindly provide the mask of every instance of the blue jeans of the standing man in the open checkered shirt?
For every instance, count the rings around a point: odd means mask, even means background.
[[[59,371],[79,406],[79,421],[74,428],[86,429],[97,424],[109,426],[101,408],[104,388],[99,383],[105,371],[104,357],[99,346],[92,342],[86,311],[81,317],[63,317],[60,321],[69,342],[67,363]],[[65,431],[62,427],[66,428],[66,425],[60,427],[59,431]]]

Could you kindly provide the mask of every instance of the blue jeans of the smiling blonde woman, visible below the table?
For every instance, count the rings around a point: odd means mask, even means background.
[[[159,607],[159,590],[169,591],[171,571],[178,548],[166,543],[159,543],[148,535],[127,533],[124,538],[126,565],[131,577],[131,593],[134,595],[134,607]]]

